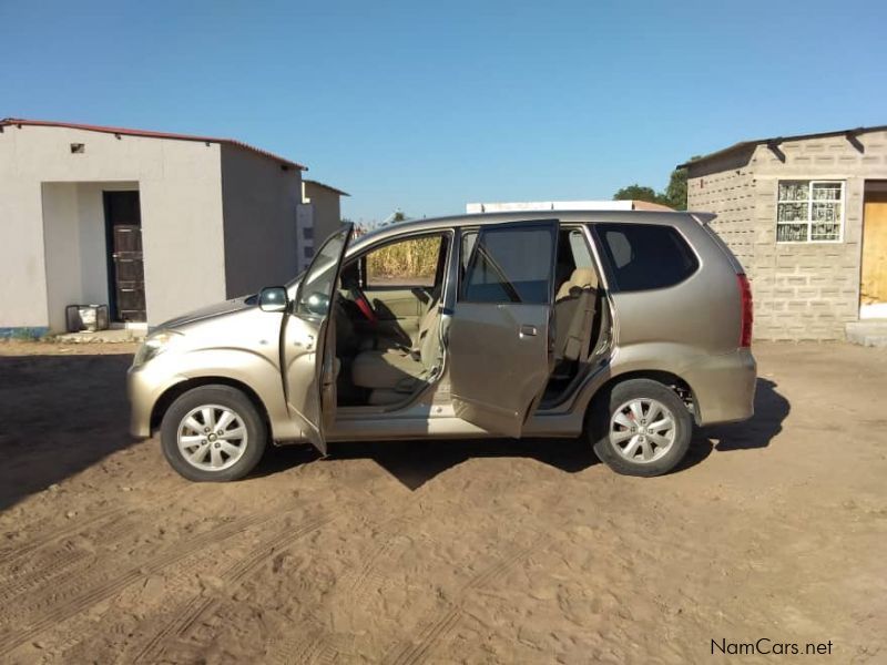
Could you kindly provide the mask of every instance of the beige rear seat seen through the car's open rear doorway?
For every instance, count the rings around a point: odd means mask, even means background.
[[[554,297],[554,360],[557,364],[583,360],[594,317],[598,274],[593,268],[577,268]],[[555,375],[558,369],[555,366]]]

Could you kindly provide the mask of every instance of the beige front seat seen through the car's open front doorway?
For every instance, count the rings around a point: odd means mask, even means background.
[[[428,308],[412,348],[369,349],[351,364],[351,382],[368,388],[370,405],[390,405],[405,399],[429,381],[440,367],[440,306]]]

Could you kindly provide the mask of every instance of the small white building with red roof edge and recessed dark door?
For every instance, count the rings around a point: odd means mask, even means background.
[[[231,139],[0,121],[0,336],[156,325],[298,268],[302,171]]]

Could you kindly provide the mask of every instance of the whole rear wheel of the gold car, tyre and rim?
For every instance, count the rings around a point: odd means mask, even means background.
[[[662,475],[690,448],[693,420],[667,386],[631,379],[602,395],[592,407],[589,433],[595,454],[625,475]]]

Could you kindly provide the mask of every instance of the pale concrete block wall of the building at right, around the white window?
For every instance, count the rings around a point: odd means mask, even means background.
[[[859,318],[863,202],[866,180],[887,178],[887,132],[757,145],[693,166],[689,207],[718,214],[712,227],[742,260],[755,298],[757,339],[844,339]],[[781,154],[779,154],[781,153]],[[776,243],[781,180],[845,183],[844,238]]]

